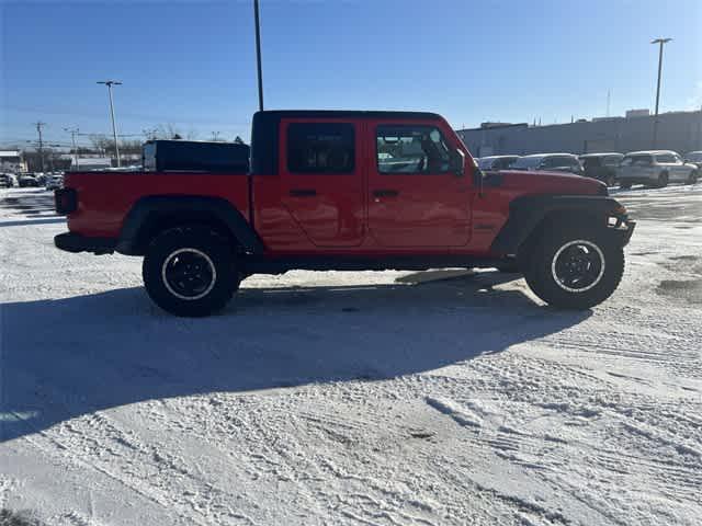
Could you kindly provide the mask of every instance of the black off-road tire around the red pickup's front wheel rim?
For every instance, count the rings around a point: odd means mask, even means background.
[[[590,288],[573,291],[557,281],[554,260],[569,243],[582,241],[599,250],[603,268]],[[599,256],[598,256],[599,258]],[[619,286],[624,273],[624,251],[605,230],[588,228],[553,228],[544,231],[535,242],[523,265],[524,278],[532,291],[548,305],[562,309],[582,310],[609,298]]]

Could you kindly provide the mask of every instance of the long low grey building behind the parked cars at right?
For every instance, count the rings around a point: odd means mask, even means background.
[[[460,129],[457,134],[471,153],[476,157],[561,151],[625,153],[652,149],[656,117],[643,115],[638,110],[634,112],[636,113],[633,117],[578,121],[548,126],[512,124]],[[675,150],[679,153],[702,150],[702,111],[670,112],[658,115],[656,148]]]

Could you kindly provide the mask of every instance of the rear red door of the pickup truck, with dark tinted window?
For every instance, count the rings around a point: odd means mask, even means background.
[[[281,203],[317,247],[355,247],[364,235],[362,125],[281,121]]]

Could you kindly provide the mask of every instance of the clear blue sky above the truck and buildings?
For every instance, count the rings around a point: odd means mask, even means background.
[[[63,128],[173,124],[249,137],[257,110],[250,0],[0,0],[0,144]],[[427,110],[454,127],[569,122],[702,106],[700,0],[261,0],[268,108]],[[83,141],[87,139],[83,138]]]

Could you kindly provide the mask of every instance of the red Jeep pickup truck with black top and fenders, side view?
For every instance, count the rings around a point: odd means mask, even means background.
[[[222,309],[242,278],[307,270],[517,267],[585,309],[624,270],[634,222],[591,179],[483,173],[440,115],[265,111],[248,172],[73,172],[56,191],[69,252],[143,255],[151,299]]]

